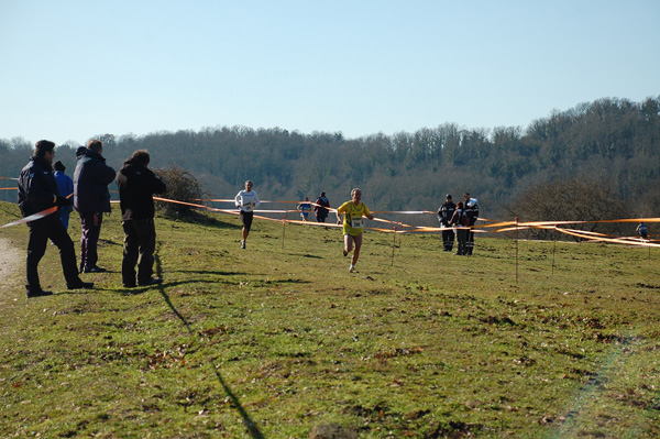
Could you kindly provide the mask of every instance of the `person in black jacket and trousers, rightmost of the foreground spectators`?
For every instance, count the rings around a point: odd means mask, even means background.
[[[124,229],[121,277],[127,288],[135,286],[135,264],[138,285],[155,285],[163,282],[158,277],[152,277],[156,249],[153,195],[164,193],[165,183],[147,168],[148,162],[148,152],[135,151],[117,175]]]

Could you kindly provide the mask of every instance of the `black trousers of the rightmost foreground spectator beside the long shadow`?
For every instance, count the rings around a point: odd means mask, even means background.
[[[138,283],[151,279],[156,250],[156,228],[153,218],[122,221],[124,229],[121,277],[124,285],[135,285],[135,264]]]

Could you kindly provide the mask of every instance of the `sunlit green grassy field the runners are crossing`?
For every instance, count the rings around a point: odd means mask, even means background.
[[[519,242],[516,281],[508,239],[465,257],[397,235],[393,259],[367,232],[350,274],[334,229],[255,220],[241,250],[234,217],[156,228],[163,285],[122,288],[113,212],[95,288],[67,292],[50,245],[56,294],[30,300],[28,228],[0,230],[21,256],[0,287],[1,438],[660,437],[658,250]]]

